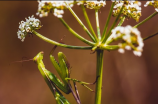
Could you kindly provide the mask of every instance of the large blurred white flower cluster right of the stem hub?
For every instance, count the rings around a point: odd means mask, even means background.
[[[126,27],[118,26],[112,30],[111,36],[114,40],[123,40],[123,43],[118,44],[120,53],[124,53],[124,49],[133,49],[133,53],[136,56],[141,56],[144,43],[137,28],[129,25]]]

